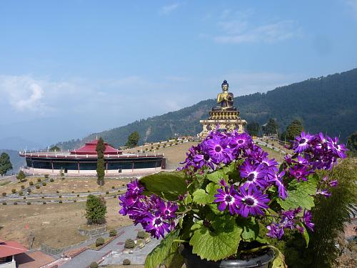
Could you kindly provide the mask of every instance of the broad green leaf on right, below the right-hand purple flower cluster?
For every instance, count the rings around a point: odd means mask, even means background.
[[[285,200],[278,199],[278,204],[284,210],[296,209],[302,207],[303,209],[311,209],[315,206],[313,202],[313,195],[316,193],[317,187],[316,177],[308,177],[307,182],[292,181],[288,185],[288,197]]]

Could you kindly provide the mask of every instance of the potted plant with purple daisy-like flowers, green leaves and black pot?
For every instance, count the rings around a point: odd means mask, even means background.
[[[289,149],[279,165],[248,134],[211,131],[176,172],[129,183],[120,213],[163,237],[145,267],[181,267],[182,256],[187,268],[286,267],[268,237],[295,230],[308,246],[314,196],[336,187],[316,172],[346,157],[343,144],[323,134],[302,132]]]

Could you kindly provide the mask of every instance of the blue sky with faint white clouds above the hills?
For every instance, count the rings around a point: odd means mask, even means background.
[[[46,146],[357,67],[357,0],[1,1],[0,139]],[[237,104],[239,106],[239,104]]]

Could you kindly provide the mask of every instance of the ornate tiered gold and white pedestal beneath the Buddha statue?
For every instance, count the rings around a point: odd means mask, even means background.
[[[204,139],[209,131],[216,130],[219,125],[218,131],[231,132],[237,129],[239,133],[243,133],[247,124],[246,120],[239,117],[239,111],[210,111],[207,120],[200,120],[203,125],[203,131],[198,134],[198,137]]]

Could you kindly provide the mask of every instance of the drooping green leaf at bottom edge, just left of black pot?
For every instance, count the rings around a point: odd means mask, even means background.
[[[165,239],[162,239],[160,244],[158,244],[146,257],[145,268],[156,268],[160,264],[165,263],[169,266],[171,260],[174,258],[174,254],[177,251],[178,244],[174,242],[177,239],[180,229],[176,229],[166,235]]]

